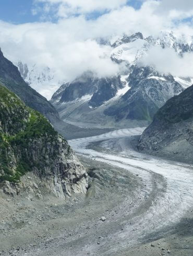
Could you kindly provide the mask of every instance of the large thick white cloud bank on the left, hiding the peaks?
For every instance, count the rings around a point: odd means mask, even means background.
[[[72,20],[73,24],[73,20]],[[109,58],[111,47],[70,34],[68,24],[50,22],[29,25],[1,23],[0,43],[12,61],[53,68],[60,79],[73,80],[90,69],[98,76],[111,76],[118,65]],[[66,32],[65,32],[66,29]],[[76,30],[74,31],[76,33]],[[17,49],[13,51],[13,49]]]

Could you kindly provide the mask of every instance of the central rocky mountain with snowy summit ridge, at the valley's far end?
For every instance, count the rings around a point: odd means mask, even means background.
[[[101,127],[151,122],[156,111],[192,81],[191,78],[160,74],[150,66],[140,66],[139,60],[153,45],[173,48],[179,55],[192,51],[192,42],[177,38],[172,32],[161,33],[158,38],[144,38],[140,32],[124,35],[112,43],[110,55],[112,61],[125,65],[123,71],[116,77],[102,79],[87,72],[61,86],[51,100],[61,118],[75,125],[101,124]]]

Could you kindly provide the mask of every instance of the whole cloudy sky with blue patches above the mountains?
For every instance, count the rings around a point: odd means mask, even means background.
[[[119,66],[109,58],[111,46],[100,45],[96,39],[112,41],[139,31],[144,37],[174,31],[191,41],[192,0],[0,1],[0,47],[4,55],[14,63],[21,60],[40,69],[49,66],[58,80],[71,81],[88,69],[101,77],[115,75]],[[156,59],[151,54],[144,63],[152,63],[151,56]],[[167,54],[174,65],[176,56]],[[184,61],[189,59],[186,56]],[[176,70],[179,65],[183,65],[181,60]],[[47,97],[49,88],[40,89]]]

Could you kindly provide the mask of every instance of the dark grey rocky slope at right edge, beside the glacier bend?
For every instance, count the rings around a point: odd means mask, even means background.
[[[142,152],[192,163],[193,85],[168,100],[143,132]]]

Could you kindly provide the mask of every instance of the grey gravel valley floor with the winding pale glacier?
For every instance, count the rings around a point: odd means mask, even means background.
[[[193,255],[192,166],[136,152],[142,131],[69,141],[88,169],[86,196],[2,196],[2,255]]]

